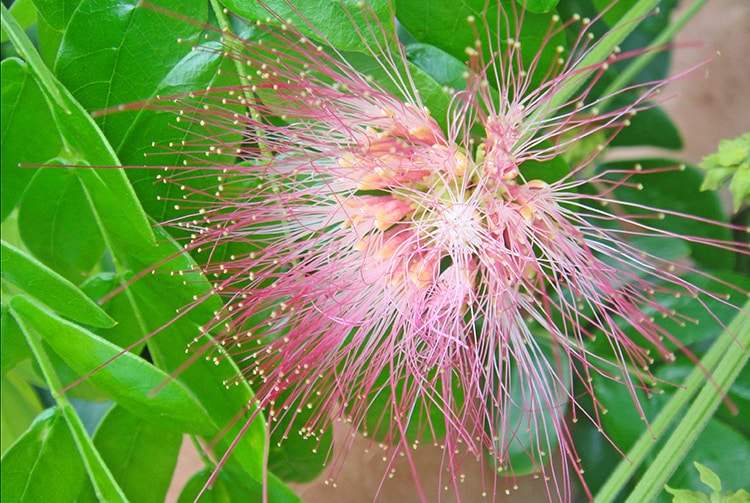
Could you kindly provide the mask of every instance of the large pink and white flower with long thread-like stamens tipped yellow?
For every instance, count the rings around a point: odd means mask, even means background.
[[[444,117],[431,115],[403,47],[367,7],[369,55],[347,57],[314,26],[303,35],[273,16],[256,24],[262,42],[225,34],[221,50],[247,84],[174,97],[181,124],[198,132],[174,147],[186,166],[161,177],[191,213],[166,225],[191,233],[187,250],[249,247],[203,266],[226,305],[202,328],[216,342],[202,351],[239,363],[271,428],[302,409],[305,424],[284,435],[317,436],[345,419],[388,446],[389,467],[415,438],[435,439],[453,486],[469,458],[512,481],[509,451],[520,447],[549,498],[567,500],[580,460],[566,414],[583,413],[572,380],[595,404],[594,374],[622,380],[635,399],[652,359],[672,357],[654,317],[681,322],[657,298],[708,292],[629,242],[670,237],[649,223],[657,210],[612,196],[640,168],[589,166],[663,82],[598,110],[592,87],[634,55],[587,64],[589,24],[553,17],[541,46],[555,58],[524,58],[526,14],[500,6],[499,19],[462,20],[478,42],[465,87],[442,91]],[[577,23],[572,47],[555,49]],[[380,83],[359,69],[367,62]],[[595,134],[601,145],[566,174],[528,174]],[[212,161],[227,153],[237,162]],[[587,351],[594,336],[613,358]],[[549,464],[555,449],[562,468]]]

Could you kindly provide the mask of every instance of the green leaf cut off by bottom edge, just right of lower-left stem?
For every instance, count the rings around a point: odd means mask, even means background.
[[[182,435],[115,406],[99,423],[94,446],[130,501],[163,502]],[[93,495],[92,495],[93,496]]]

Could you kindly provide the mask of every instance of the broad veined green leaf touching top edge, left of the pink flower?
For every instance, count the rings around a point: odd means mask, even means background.
[[[198,42],[201,30],[178,16],[203,23],[206,2],[153,3],[174,16],[137,0],[83,0],[67,19],[54,70],[84,108],[102,110],[154,96]],[[112,114],[98,122],[117,147],[133,121],[128,114]]]

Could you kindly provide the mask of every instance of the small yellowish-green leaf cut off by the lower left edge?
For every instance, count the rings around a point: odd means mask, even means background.
[[[3,344],[3,352],[5,352],[5,344]],[[3,376],[0,398],[2,399],[2,452],[5,452],[42,412],[42,403],[34,388],[14,371]]]

